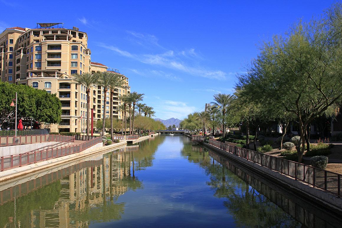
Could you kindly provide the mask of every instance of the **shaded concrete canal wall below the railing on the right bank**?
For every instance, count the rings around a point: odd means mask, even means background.
[[[308,185],[301,181],[294,180],[292,177],[283,175],[277,171],[263,167],[257,163],[254,163],[252,161],[246,160],[245,158],[241,158],[237,155],[226,152],[223,149],[217,148],[208,143],[202,142],[201,144],[205,145],[206,147],[214,151],[224,154],[229,159],[233,159],[234,161],[237,161],[241,163],[242,165],[246,165],[249,168],[257,172],[260,172],[266,175],[268,178],[272,179],[273,181],[278,182],[279,184],[284,185],[285,187],[288,187],[293,191],[296,191],[297,193],[299,193],[300,195],[304,197],[307,197],[315,202],[319,202],[320,204],[324,205],[326,208],[329,208],[332,210],[338,210],[342,212],[342,199],[338,198],[337,196],[331,195],[319,188],[314,188],[311,185]]]

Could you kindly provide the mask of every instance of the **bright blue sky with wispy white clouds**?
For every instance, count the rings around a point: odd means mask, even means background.
[[[204,110],[214,94],[230,94],[260,41],[332,2],[0,0],[0,31],[55,22],[78,27],[88,34],[92,61],[128,76],[156,117],[182,119]]]

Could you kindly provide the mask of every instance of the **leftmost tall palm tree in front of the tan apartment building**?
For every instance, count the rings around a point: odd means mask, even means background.
[[[73,74],[73,83],[83,85],[87,93],[87,136],[90,129],[90,90],[91,87],[97,84],[98,75],[93,75],[89,72],[83,74]]]

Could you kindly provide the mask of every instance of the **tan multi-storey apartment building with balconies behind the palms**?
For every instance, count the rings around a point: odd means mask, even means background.
[[[60,23],[50,23],[37,24],[36,29],[5,29],[0,34],[1,80],[57,94],[62,103],[62,122],[42,127],[50,128],[52,132],[84,132],[88,115],[87,95],[82,85],[72,83],[71,75],[103,71],[118,73],[118,70],[91,61],[87,33],[75,27],[66,29],[60,26]],[[122,74],[121,77],[126,81],[125,87],[117,89],[113,104],[109,104],[110,94],[104,94],[101,86],[91,89],[94,121],[109,117],[109,105],[113,105],[114,118],[122,118],[117,110],[121,104],[120,96],[130,93],[130,87],[128,78]]]

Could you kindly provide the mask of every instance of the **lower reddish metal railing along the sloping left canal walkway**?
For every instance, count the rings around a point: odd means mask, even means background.
[[[55,135],[58,137],[58,135]],[[65,137],[65,136],[62,136]],[[73,137],[72,137],[73,138]],[[78,145],[70,145],[62,148],[46,149],[44,151],[26,152],[10,156],[0,157],[0,171],[22,167],[39,161],[46,161],[52,158],[75,154],[89,148],[90,146],[102,142],[101,137],[94,138]]]

